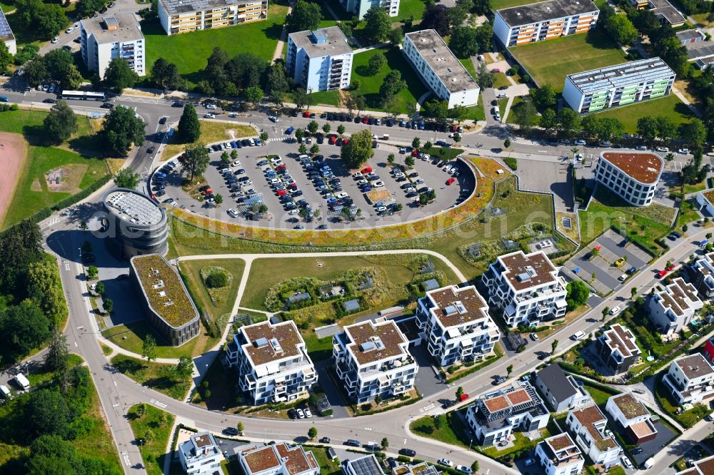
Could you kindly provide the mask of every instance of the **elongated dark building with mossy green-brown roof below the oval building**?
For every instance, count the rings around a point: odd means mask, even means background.
[[[198,310],[176,269],[158,254],[135,255],[129,265],[151,327],[174,347],[196,337]]]

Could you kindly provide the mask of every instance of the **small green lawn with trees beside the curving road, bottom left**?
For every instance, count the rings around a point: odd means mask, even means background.
[[[169,444],[174,414],[169,414],[149,404],[136,404],[126,414],[131,431],[137,441],[141,439],[139,451],[149,475],[164,474],[164,457]]]

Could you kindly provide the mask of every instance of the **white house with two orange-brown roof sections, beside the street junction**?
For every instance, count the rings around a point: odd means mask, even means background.
[[[479,445],[505,441],[513,431],[543,429],[548,417],[550,412],[527,382],[482,394],[466,410],[466,422]]]

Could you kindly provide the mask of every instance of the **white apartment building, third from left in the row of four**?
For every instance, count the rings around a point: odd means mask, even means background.
[[[423,332],[422,342],[441,366],[480,359],[501,339],[488,305],[473,285],[426,292],[416,307],[416,324]]]

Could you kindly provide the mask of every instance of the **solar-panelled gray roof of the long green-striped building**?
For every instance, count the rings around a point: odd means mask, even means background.
[[[649,58],[570,74],[568,78],[582,93],[590,93],[663,76],[675,76],[675,73],[660,58]]]

